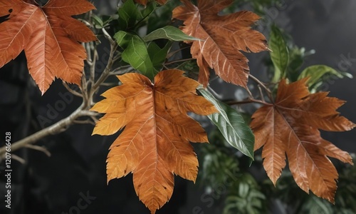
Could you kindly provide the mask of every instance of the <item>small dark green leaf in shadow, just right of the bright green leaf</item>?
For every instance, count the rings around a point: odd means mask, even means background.
[[[171,48],[172,43],[168,42],[163,49],[159,48],[155,42],[150,42],[147,47],[148,54],[150,55],[153,66],[157,71],[162,70],[163,63],[166,60],[167,53]]]

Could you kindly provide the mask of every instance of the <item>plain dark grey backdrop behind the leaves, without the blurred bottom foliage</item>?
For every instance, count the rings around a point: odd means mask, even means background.
[[[100,14],[110,14],[117,1],[94,1]],[[325,64],[356,76],[356,2],[351,0],[299,0],[285,1],[285,8],[267,8],[268,21],[276,21],[281,28],[293,36],[295,44],[314,49],[305,66]],[[267,36],[268,29],[260,26]],[[250,58],[251,73],[266,76],[261,66],[266,54]],[[347,62],[345,58],[350,58]],[[353,60],[355,58],[355,60]],[[356,122],[354,107],[356,99],[355,79],[344,78],[325,86],[330,96],[347,101],[340,108],[342,116]],[[237,88],[227,85],[220,93],[226,98],[236,96]],[[63,100],[59,93],[66,93],[57,80],[41,97],[36,85],[28,75],[23,54],[0,71],[0,133],[11,131],[12,142],[41,130],[38,116],[46,116],[48,109]],[[65,110],[58,113],[51,124],[68,116],[80,105],[75,98]],[[49,126],[46,123],[45,126]],[[74,125],[68,131],[43,138],[37,145],[46,146],[51,157],[44,153],[22,149],[15,154],[24,158],[26,164],[12,161],[12,208],[10,213],[69,213],[78,200],[87,193],[95,197],[80,213],[149,213],[137,198],[132,185],[132,176],[106,183],[105,159],[114,136],[91,136],[93,126]],[[323,133],[339,148],[356,152],[355,133]],[[3,145],[1,140],[1,145]],[[1,163],[3,170],[4,163]],[[203,190],[199,185],[176,177],[174,193],[169,203],[157,213],[192,213],[199,206],[204,213],[220,213],[219,208],[208,208],[201,200]],[[9,213],[4,208],[4,176],[0,173],[0,213]],[[85,203],[83,203],[84,205]],[[75,211],[73,212],[75,213]],[[281,212],[283,213],[283,212]]]

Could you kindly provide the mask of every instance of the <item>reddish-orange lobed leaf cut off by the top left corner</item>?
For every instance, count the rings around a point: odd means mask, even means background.
[[[90,29],[71,16],[95,9],[87,0],[1,0],[0,67],[25,51],[28,70],[42,94],[54,78],[80,85],[85,49],[80,42],[96,39]]]

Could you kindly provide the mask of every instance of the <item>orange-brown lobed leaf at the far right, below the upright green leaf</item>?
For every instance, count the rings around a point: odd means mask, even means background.
[[[328,93],[310,94],[307,79],[278,86],[276,102],[253,114],[251,128],[256,137],[255,151],[263,146],[263,167],[273,184],[286,166],[306,193],[334,202],[337,170],[329,157],[352,163],[351,156],[320,137],[324,131],[349,131],[355,124],[336,111],[344,101]]]

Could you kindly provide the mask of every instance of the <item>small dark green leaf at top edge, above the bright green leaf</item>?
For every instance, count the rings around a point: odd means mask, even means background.
[[[120,29],[127,30],[135,26],[137,17],[140,16],[140,11],[137,9],[133,0],[127,0],[125,4],[118,9],[118,14]]]

